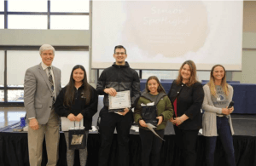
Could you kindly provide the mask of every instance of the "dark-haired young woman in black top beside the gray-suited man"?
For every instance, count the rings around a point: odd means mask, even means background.
[[[97,112],[98,95],[96,90],[87,82],[84,66],[74,66],[69,83],[61,89],[55,101],[55,112],[60,117],[67,117],[70,121],[84,119],[85,135],[88,138],[92,117]],[[67,166],[73,166],[74,150],[68,149],[68,132],[64,132],[67,142]],[[87,141],[86,141],[87,142]],[[85,166],[87,149],[79,150],[80,164]]]

